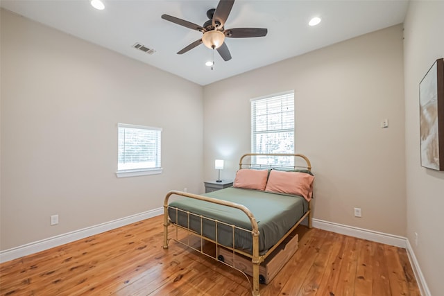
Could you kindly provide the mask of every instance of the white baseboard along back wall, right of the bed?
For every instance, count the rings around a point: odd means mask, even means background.
[[[374,232],[373,230],[332,223],[324,220],[313,219],[313,227],[328,230],[329,232],[336,232],[338,234],[345,234],[348,236],[355,236],[357,238],[367,239],[368,241],[375,241],[377,243],[385,243],[386,245],[394,245],[396,247],[407,247],[407,238],[402,236],[395,236],[393,234],[384,234],[383,232]]]

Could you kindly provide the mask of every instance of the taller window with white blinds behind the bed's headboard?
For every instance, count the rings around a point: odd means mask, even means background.
[[[251,151],[294,153],[294,92],[251,100]],[[273,157],[256,159],[257,164],[274,163]],[[281,162],[293,165],[293,157]]]

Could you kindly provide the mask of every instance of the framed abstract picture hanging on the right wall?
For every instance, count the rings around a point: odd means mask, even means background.
[[[421,166],[444,171],[444,60],[419,84]]]

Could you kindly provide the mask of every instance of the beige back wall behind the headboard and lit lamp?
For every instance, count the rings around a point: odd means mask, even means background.
[[[404,236],[403,79],[398,25],[207,85],[204,177],[216,177],[219,157],[221,176],[234,177],[250,152],[250,98],[294,89],[296,152],[316,175],[314,218]]]

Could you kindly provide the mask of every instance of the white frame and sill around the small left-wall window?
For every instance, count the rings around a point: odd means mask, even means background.
[[[155,167],[146,167],[146,168],[125,168],[125,169],[119,169],[119,142],[120,142],[120,129],[121,128],[128,128],[128,129],[135,129],[135,130],[150,130],[158,132],[157,134],[157,141],[155,143],[155,150],[156,150],[156,164],[159,164],[159,166]],[[127,123],[117,123],[117,177],[136,177],[141,175],[157,175],[161,174],[163,171],[162,168],[162,128],[155,128],[151,126],[146,125],[133,125],[133,124],[127,124]]]

